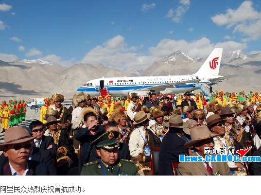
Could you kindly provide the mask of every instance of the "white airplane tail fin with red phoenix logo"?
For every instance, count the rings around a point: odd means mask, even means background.
[[[218,75],[223,48],[215,48],[194,75]]]

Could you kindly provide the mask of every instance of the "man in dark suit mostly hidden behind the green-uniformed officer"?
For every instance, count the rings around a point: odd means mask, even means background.
[[[104,132],[107,131],[119,131],[118,128],[118,124],[116,122],[109,122],[107,124],[104,125]],[[119,136],[116,138],[117,141],[119,142],[119,152],[118,152],[118,159],[126,159],[126,160],[130,160],[130,148],[129,145],[127,143],[122,143],[120,142],[120,134]],[[88,162],[92,162],[95,160],[101,159],[101,157],[97,154],[96,151],[96,147],[94,147],[91,150],[91,155],[90,155],[90,159]]]

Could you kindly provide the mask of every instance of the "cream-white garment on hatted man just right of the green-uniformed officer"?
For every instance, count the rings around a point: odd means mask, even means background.
[[[131,133],[129,140],[129,148],[130,148],[130,156],[137,157],[140,153],[144,151],[144,140],[145,139],[145,130],[143,130],[144,126],[137,126],[136,129]],[[140,133],[139,133],[140,131]],[[143,137],[141,137],[141,135]]]

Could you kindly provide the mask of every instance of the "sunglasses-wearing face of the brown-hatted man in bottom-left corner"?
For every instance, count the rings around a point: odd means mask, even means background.
[[[10,144],[3,149],[3,154],[12,166],[27,162],[32,150],[32,141]]]

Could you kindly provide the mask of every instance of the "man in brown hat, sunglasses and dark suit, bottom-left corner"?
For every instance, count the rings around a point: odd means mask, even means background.
[[[8,158],[8,162],[0,168],[2,176],[46,176],[50,175],[47,164],[28,160],[31,156],[32,137],[23,127],[8,128],[4,135],[4,143],[0,150]]]

